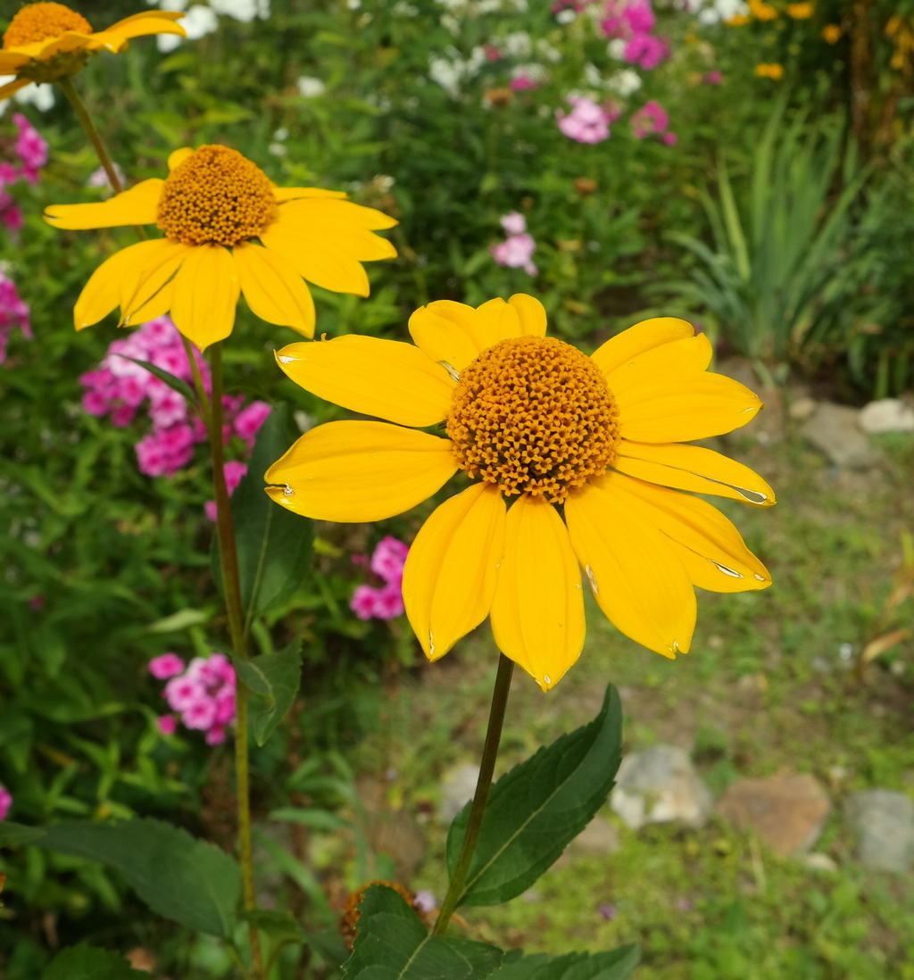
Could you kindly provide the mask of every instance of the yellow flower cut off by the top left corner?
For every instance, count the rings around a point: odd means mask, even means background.
[[[179,34],[176,25],[184,15],[166,10],[150,10],[125,18],[107,30],[93,31],[92,25],[62,3],[30,3],[13,18],[3,35],[0,74],[16,78],[0,86],[0,99],[32,81],[54,81],[75,74],[90,54],[107,50],[123,51],[132,37],[145,34]]]

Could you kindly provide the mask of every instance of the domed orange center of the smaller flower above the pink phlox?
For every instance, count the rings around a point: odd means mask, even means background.
[[[159,227],[185,245],[237,245],[276,220],[272,184],[260,167],[227,146],[201,146],[168,174]]]

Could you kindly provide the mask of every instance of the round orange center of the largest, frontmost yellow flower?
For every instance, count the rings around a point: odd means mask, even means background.
[[[460,373],[447,430],[470,476],[561,504],[612,464],[618,416],[589,357],[553,337],[514,337]]]

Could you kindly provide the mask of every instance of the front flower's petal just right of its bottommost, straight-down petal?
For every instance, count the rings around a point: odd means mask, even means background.
[[[669,539],[599,480],[568,495],[565,520],[571,547],[613,625],[664,657],[688,653],[698,605]]]

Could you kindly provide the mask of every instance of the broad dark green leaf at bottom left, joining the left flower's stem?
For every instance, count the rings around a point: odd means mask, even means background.
[[[229,939],[241,899],[241,869],[215,844],[160,820],[60,823],[37,843],[118,868],[154,912]]]

